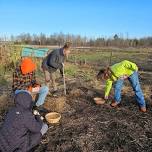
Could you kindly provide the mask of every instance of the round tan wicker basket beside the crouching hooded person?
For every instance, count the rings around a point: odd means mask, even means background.
[[[48,123],[54,124],[59,122],[59,120],[61,119],[61,115],[57,112],[50,112],[45,115],[45,119]]]

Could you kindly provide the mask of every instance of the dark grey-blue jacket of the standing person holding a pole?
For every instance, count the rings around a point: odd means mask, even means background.
[[[42,68],[49,72],[55,72],[57,69],[63,73],[62,63],[64,62],[63,48],[53,50],[42,62]]]

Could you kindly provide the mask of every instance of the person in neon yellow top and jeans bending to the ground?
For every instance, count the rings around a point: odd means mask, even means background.
[[[111,103],[112,107],[116,107],[121,102],[121,90],[124,80],[128,79],[136,96],[140,110],[146,112],[145,99],[139,84],[138,67],[135,63],[124,60],[116,63],[107,69],[102,69],[97,75],[97,79],[106,80],[105,99],[108,99],[110,90],[114,84],[114,102]]]

